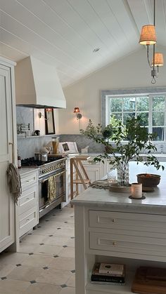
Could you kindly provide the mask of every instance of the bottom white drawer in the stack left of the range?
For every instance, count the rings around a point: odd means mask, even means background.
[[[37,208],[31,208],[29,211],[22,213],[20,215],[19,221],[19,236],[23,236],[23,234],[27,233],[32,227],[37,225],[38,223],[38,210]]]

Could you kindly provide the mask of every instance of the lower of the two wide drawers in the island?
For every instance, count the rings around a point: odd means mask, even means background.
[[[123,257],[132,254],[166,257],[166,239],[122,234],[90,232],[90,249],[112,251],[113,256],[120,253]]]

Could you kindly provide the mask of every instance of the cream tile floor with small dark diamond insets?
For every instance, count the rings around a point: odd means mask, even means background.
[[[44,215],[20,253],[0,253],[0,294],[75,294],[73,208]]]

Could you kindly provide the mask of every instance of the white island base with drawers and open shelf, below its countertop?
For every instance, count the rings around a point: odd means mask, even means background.
[[[106,204],[100,210],[76,201],[76,294],[131,294],[137,267],[165,267],[166,215],[111,211]],[[125,286],[92,284],[95,262],[125,264]]]

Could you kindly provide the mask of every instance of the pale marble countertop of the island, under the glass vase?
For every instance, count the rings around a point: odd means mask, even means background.
[[[155,173],[161,175],[160,184],[153,192],[146,192],[146,199],[129,199],[129,193],[110,192],[108,189],[95,189],[89,187],[75,197],[71,202],[76,206],[89,206],[108,208],[112,211],[129,211],[137,213],[166,214],[166,163],[165,171],[156,171],[151,166],[143,166],[143,163],[129,163],[130,183],[137,182],[138,173]]]

